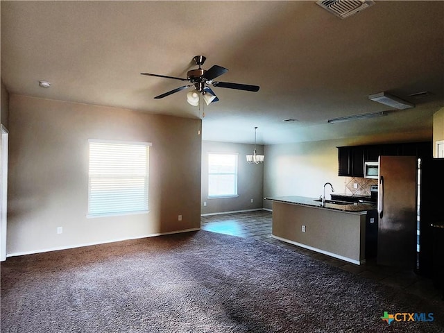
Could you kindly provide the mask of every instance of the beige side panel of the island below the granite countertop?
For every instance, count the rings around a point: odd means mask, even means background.
[[[305,225],[305,232],[302,232]],[[353,262],[365,259],[365,214],[273,201],[273,235]]]

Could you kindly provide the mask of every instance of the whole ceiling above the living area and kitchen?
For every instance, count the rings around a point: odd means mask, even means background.
[[[259,92],[212,88],[203,139],[263,144],[385,133],[432,133],[444,106],[444,1],[376,1],[347,19],[315,1],[1,1],[1,78],[11,94],[201,117],[184,85],[192,58],[218,80]],[[41,88],[39,80],[51,87]],[[390,92],[416,104],[368,100]],[[430,96],[409,96],[427,91]],[[284,123],[284,119],[298,119]]]

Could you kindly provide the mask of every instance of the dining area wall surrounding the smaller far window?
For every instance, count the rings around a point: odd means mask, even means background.
[[[257,145],[256,148],[258,154],[263,152],[263,146]],[[252,154],[253,149],[253,144],[202,142],[202,192],[200,198],[202,214],[262,209],[264,165],[248,164],[246,161],[246,155]],[[239,196],[237,198],[208,198],[208,153],[239,154],[237,183]],[[253,203],[251,203],[251,199],[253,199]],[[207,205],[205,206],[204,203],[207,203]]]

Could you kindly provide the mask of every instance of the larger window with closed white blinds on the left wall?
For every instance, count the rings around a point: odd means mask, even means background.
[[[149,146],[89,139],[89,217],[148,211]]]

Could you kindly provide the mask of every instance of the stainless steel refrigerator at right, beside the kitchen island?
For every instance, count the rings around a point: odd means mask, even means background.
[[[379,156],[377,264],[416,267],[418,159]]]

